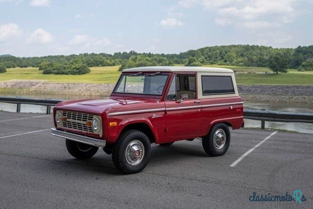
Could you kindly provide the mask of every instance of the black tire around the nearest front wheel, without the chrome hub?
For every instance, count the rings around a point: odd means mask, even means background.
[[[140,141],[144,147],[144,155],[140,163],[132,165],[126,160],[127,147],[134,141]],[[125,173],[133,174],[143,170],[151,156],[151,143],[149,138],[141,131],[128,130],[121,134],[112,148],[112,160],[115,167]]]

